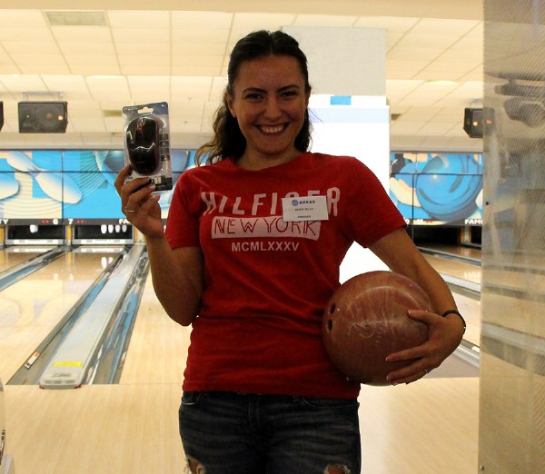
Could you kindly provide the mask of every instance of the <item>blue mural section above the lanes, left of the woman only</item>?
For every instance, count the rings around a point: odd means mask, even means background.
[[[174,182],[193,165],[193,156],[193,151],[173,151]],[[83,233],[84,226],[106,226],[107,234],[108,226],[124,224],[114,188],[123,166],[124,154],[118,150],[0,151],[0,220],[6,243],[32,241],[33,231],[36,239],[63,243],[66,226]],[[172,192],[162,193],[163,218],[171,198]]]

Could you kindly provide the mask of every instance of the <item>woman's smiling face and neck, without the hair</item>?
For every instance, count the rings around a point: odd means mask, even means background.
[[[308,103],[304,76],[294,57],[264,56],[241,64],[233,94],[227,96],[246,138],[240,163],[272,166],[299,154],[294,142]]]

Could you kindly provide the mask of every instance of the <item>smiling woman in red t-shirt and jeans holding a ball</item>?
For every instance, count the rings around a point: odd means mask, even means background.
[[[124,184],[129,168],[116,181],[159,300],[193,325],[180,408],[191,472],[360,472],[360,387],[333,367],[321,336],[352,242],[417,281],[436,311],[411,311],[430,338],[389,356],[414,360],[392,384],[420,379],[461,341],[451,292],[375,176],[354,158],[307,152],[310,94],[290,35],[247,35],[231,55],[214,138],[197,153],[207,165],[181,176],[166,232],[153,188]],[[295,198],[312,202],[308,216],[293,220]]]

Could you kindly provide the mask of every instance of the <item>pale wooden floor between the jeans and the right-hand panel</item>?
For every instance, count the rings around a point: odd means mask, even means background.
[[[362,385],[362,473],[476,472],[479,379],[421,379],[409,385]]]

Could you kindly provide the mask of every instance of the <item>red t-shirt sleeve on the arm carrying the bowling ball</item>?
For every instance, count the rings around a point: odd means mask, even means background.
[[[406,225],[379,179],[364,163],[354,158],[344,175],[349,180],[348,199],[343,202],[347,217],[344,232],[351,240],[369,247]]]

